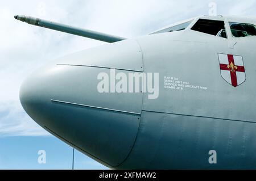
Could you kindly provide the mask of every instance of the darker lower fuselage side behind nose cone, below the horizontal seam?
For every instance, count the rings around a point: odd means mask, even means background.
[[[255,123],[143,111],[133,150],[115,169],[256,169],[255,137]]]

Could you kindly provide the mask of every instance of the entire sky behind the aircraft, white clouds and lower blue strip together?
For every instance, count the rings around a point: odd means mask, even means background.
[[[137,37],[179,20],[208,14],[256,16],[256,1],[1,1],[0,2],[0,169],[71,169],[72,148],[40,128],[19,103],[23,79],[57,57],[102,43],[46,30],[15,14],[71,24],[122,37]],[[46,164],[38,163],[46,150]],[[75,169],[107,169],[75,152]]]

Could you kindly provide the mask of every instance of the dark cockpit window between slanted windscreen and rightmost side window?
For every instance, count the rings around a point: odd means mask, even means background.
[[[224,21],[199,19],[191,30],[227,38]]]

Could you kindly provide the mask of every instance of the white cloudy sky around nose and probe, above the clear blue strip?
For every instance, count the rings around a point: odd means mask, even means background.
[[[137,37],[178,20],[207,14],[212,1],[91,0],[2,1],[0,7],[0,136],[48,135],[19,103],[19,87],[40,65],[78,50],[105,44],[18,22],[36,16],[123,37]],[[217,14],[256,15],[255,1],[213,1]]]

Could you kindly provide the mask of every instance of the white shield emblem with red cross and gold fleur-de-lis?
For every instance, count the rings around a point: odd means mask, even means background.
[[[245,66],[242,56],[218,53],[218,60],[220,61],[221,77],[226,82],[234,87],[245,82]]]

